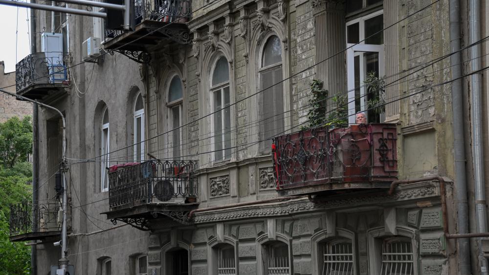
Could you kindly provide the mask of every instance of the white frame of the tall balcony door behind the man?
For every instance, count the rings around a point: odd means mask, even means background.
[[[366,16],[362,16],[360,18],[357,18],[352,21],[348,21],[346,23],[346,32],[347,32],[347,39],[348,39],[348,26],[352,24],[358,23],[359,25],[359,43],[354,44],[354,43],[348,43],[347,41],[347,46],[348,50],[346,52],[346,64],[347,64],[347,88],[348,88],[348,123],[349,124],[356,124],[355,122],[355,113],[356,113],[356,106],[355,106],[355,57],[359,56],[360,59],[360,111],[365,111],[366,106],[365,106],[365,85],[363,85],[363,82],[365,80],[365,59],[364,59],[364,53],[365,52],[375,52],[378,53],[378,63],[379,63],[379,77],[385,76],[385,46],[384,44],[381,45],[374,45],[374,44],[365,44],[363,41],[365,39],[365,24],[364,22],[368,19],[374,18],[376,16],[379,16],[383,14],[384,11],[378,10],[376,12],[370,13]]]

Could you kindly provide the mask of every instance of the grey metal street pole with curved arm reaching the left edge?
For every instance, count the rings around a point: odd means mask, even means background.
[[[26,98],[24,96],[17,95],[15,93],[8,92],[4,89],[0,89],[0,92],[6,93],[11,96],[15,96],[17,98],[21,98],[25,101],[32,102],[34,104],[46,107],[48,109],[56,111],[60,116],[61,120],[63,122],[63,148],[62,148],[62,160],[61,160],[61,170],[63,171],[63,225],[61,229],[61,259],[58,261],[60,268],[64,270],[66,273],[67,270],[67,265],[68,265],[68,258],[67,258],[67,252],[68,252],[68,237],[67,237],[67,199],[68,199],[68,190],[67,190],[67,184],[66,184],[66,171],[68,169],[67,167],[67,159],[66,159],[66,148],[67,148],[67,142],[66,142],[66,120],[65,116],[63,113],[58,110],[57,108],[53,106],[46,105],[44,103],[37,102],[35,100],[32,100],[30,98]]]

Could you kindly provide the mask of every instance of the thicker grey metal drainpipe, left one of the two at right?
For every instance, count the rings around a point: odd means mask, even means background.
[[[467,171],[464,140],[464,105],[462,92],[462,58],[460,53],[460,0],[450,0],[450,57],[452,65],[452,112],[453,112],[453,149],[455,168],[455,190],[458,233],[468,233],[468,203],[467,203]],[[469,275],[470,272],[470,243],[467,238],[458,239],[458,272]]]

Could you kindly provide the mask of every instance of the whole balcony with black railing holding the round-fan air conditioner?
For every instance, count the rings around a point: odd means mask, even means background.
[[[147,161],[111,166],[109,207],[112,223],[122,221],[149,230],[148,221],[163,217],[189,224],[187,214],[198,207],[195,161]]]

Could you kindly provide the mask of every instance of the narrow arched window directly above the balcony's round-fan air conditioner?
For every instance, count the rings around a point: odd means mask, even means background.
[[[168,91],[168,108],[170,109],[171,121],[170,128],[173,129],[171,135],[173,158],[178,159],[182,156],[182,98],[183,90],[180,77],[173,77]]]

